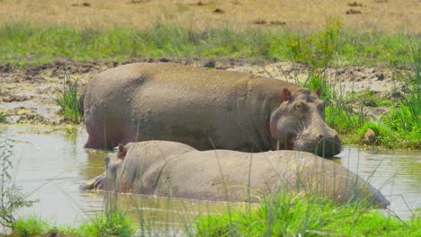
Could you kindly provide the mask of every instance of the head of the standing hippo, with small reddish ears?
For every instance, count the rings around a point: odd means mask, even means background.
[[[301,89],[291,95],[283,89],[283,101],[273,111],[269,127],[278,148],[300,150],[332,157],[341,151],[336,130],[325,123],[325,102],[320,100],[321,89],[310,92]]]

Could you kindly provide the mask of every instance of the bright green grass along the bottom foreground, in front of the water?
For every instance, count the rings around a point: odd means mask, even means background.
[[[113,207],[115,208],[115,207]],[[7,236],[134,236],[153,234],[154,227],[137,227],[117,208],[95,215],[80,226],[54,226],[30,215],[18,218]],[[140,220],[144,220],[141,216]],[[149,229],[151,228],[151,229]],[[171,227],[169,227],[171,228]],[[420,236],[421,215],[401,220],[364,203],[336,205],[315,196],[282,194],[264,198],[259,206],[245,206],[220,215],[198,215],[184,223],[190,236]],[[157,231],[157,230],[155,230]],[[166,229],[171,233],[171,229]],[[56,236],[56,235],[53,235]]]

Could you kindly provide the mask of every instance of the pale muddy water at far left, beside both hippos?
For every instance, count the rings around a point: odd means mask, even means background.
[[[51,127],[1,127],[13,139],[14,182],[30,199],[39,199],[24,214],[39,214],[58,224],[80,222],[101,209],[101,195],[78,190],[81,180],[103,171],[103,153],[86,152],[80,132]]]

